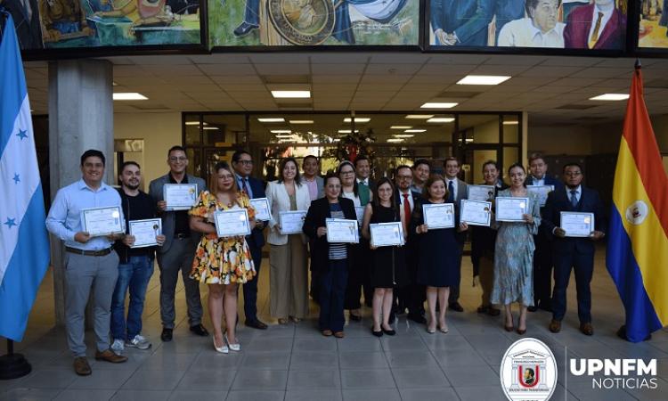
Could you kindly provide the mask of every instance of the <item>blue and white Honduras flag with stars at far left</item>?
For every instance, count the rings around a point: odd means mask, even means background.
[[[20,341],[49,266],[42,184],[12,16],[0,36],[0,336]]]

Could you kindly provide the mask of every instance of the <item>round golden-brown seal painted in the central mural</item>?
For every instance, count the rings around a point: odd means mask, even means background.
[[[334,30],[331,0],[268,0],[273,27],[295,45],[320,45]]]

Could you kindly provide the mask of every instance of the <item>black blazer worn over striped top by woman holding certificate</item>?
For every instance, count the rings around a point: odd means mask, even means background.
[[[356,220],[357,216],[354,213],[354,202],[339,198],[338,203],[341,205],[343,215],[347,219]],[[311,202],[311,207],[308,208],[306,218],[304,221],[304,233],[308,236],[309,246],[311,249],[311,265],[314,271],[326,271],[330,263],[330,243],[327,241],[327,236],[322,235],[318,237],[318,227],[325,226],[325,219],[331,217],[330,201],[327,198],[316,199]],[[348,245],[348,256],[351,255],[353,247]],[[350,263],[350,258],[347,259]]]

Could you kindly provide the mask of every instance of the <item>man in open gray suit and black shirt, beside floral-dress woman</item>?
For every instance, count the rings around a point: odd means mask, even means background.
[[[163,197],[165,184],[197,184],[197,191],[207,189],[203,179],[186,174],[188,157],[181,146],[172,146],[167,152],[169,172],[151,181],[149,194],[157,204],[159,217],[162,218],[162,232],[165,243],[158,250],[158,266],[160,269],[160,319],[162,320],[163,341],[172,340],[176,312],[174,299],[176,282],[181,271],[185,301],[188,307],[188,323],[191,332],[199,336],[208,336],[207,329],[202,325],[202,303],[200,300],[200,282],[190,278],[192,259],[200,236],[191,233],[188,210],[167,210],[167,201]]]

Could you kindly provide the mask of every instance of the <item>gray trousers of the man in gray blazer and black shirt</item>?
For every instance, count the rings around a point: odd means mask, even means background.
[[[193,238],[177,239],[165,253],[158,253],[160,269],[160,319],[166,329],[174,329],[176,311],[174,299],[179,271],[183,277],[185,303],[188,307],[188,322],[191,326],[202,322],[202,303],[200,300],[200,282],[190,278],[192,259],[195,258],[197,241]]]

